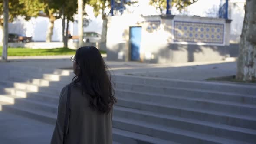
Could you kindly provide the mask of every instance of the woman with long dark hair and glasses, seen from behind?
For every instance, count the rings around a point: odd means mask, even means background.
[[[77,49],[70,60],[75,77],[60,94],[51,144],[112,144],[117,100],[105,62],[93,46]]]

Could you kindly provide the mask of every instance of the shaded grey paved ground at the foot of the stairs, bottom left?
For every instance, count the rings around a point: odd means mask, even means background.
[[[0,144],[49,144],[53,125],[0,111]]]

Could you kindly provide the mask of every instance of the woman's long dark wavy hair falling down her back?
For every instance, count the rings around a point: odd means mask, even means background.
[[[94,46],[81,47],[76,51],[75,61],[79,72],[72,79],[73,83],[81,84],[82,92],[89,95],[92,109],[109,113],[117,100],[110,72],[100,51]]]

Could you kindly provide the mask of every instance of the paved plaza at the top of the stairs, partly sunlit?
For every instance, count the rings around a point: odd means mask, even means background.
[[[0,67],[37,67],[41,69],[72,68],[70,56],[9,57]],[[236,74],[236,62],[189,62],[179,64],[150,64],[139,62],[106,62],[115,75],[139,75],[169,79],[204,80],[210,77]]]

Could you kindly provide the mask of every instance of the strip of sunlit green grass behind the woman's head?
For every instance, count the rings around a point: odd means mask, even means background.
[[[0,56],[3,47],[0,47]],[[8,56],[56,56],[56,55],[75,55],[75,50],[68,48],[56,49],[29,49],[29,48],[8,48]],[[105,51],[101,51],[105,54]]]

